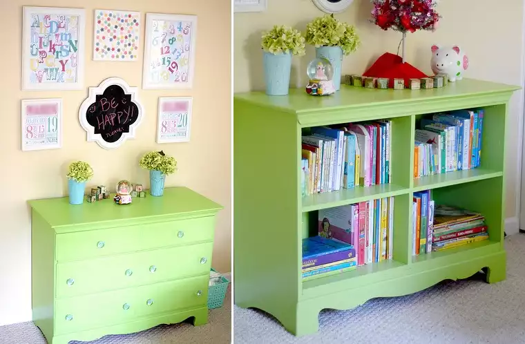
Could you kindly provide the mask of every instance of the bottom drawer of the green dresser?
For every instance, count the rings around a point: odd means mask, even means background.
[[[136,321],[142,316],[205,307],[209,274],[156,285],[55,301],[55,334]]]

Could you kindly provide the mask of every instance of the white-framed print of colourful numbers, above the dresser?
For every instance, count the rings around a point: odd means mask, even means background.
[[[146,13],[142,88],[193,87],[197,16]]]

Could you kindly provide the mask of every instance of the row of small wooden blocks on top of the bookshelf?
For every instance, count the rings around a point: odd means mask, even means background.
[[[386,77],[365,77],[363,75],[345,75],[345,84],[364,88],[387,89],[390,79]],[[448,84],[446,75],[435,75],[421,79],[408,79],[408,88],[419,90],[421,88],[441,88]],[[394,78],[394,90],[403,90],[405,79]]]

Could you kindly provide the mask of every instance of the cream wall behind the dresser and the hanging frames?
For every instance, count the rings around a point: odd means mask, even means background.
[[[77,3],[78,6],[73,6]],[[84,5],[81,5],[84,3]],[[84,7],[86,9],[85,88],[83,90],[21,91],[22,6]],[[190,90],[142,90],[141,55],[137,62],[92,61],[93,9],[178,13],[198,16],[195,79]],[[164,150],[178,160],[179,171],[166,178],[166,186],[185,186],[211,198],[225,209],[218,215],[213,266],[231,271],[231,6],[229,0],[10,0],[0,1],[2,44],[8,52],[0,55],[4,67],[0,84],[0,325],[31,318],[30,211],[26,201],[67,194],[66,166],[71,160],[85,160],[95,170],[90,185],[115,185],[120,179],[149,184],[138,159],[150,150]],[[78,121],[78,110],[88,86],[97,86],[106,77],[122,77],[139,88],[144,106],[143,122],[135,140],[106,151],[95,142],[86,142]],[[211,79],[213,77],[213,79]],[[220,80],[220,86],[213,80]],[[157,102],[160,96],[193,96],[191,142],[155,144]],[[64,136],[62,149],[21,151],[20,100],[61,97]]]

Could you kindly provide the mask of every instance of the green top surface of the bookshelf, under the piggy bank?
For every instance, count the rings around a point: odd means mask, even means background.
[[[430,99],[459,98],[490,93],[510,93],[519,90],[518,86],[497,84],[475,79],[462,79],[449,82],[443,88],[420,90],[381,90],[341,84],[341,90],[333,95],[316,97],[307,95],[305,88],[291,88],[289,95],[269,96],[265,92],[236,93],[234,99],[258,106],[269,106],[293,113],[327,110],[330,108],[351,108],[354,106],[381,106],[393,103],[421,102]]]

